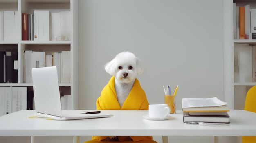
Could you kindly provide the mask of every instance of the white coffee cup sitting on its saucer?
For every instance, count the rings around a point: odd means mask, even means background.
[[[167,104],[150,104],[148,109],[150,118],[164,118],[170,114],[170,111]]]

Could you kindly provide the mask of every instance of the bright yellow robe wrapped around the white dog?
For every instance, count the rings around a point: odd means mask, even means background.
[[[115,77],[113,76],[103,88],[101,96],[96,101],[97,110],[148,110],[148,100],[138,79],[135,79],[132,89],[121,107],[117,101],[115,91]],[[92,136],[92,140],[101,141],[108,136]],[[152,140],[152,136],[130,136],[133,141]]]

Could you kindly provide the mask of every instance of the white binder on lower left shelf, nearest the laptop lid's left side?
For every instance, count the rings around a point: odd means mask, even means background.
[[[12,87],[12,112],[27,109],[27,87]]]

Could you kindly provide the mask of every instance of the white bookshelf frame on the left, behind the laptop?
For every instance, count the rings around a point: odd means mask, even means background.
[[[34,10],[50,12],[70,11],[70,41],[22,41],[21,13],[33,14]],[[0,11],[18,11],[18,40],[0,41],[0,50],[12,46],[18,49],[18,83],[0,83],[1,86],[24,86],[32,88],[32,83],[24,81],[24,51],[43,51],[45,53],[70,51],[70,83],[59,83],[63,92],[73,95],[74,109],[78,109],[78,0],[0,0]]]

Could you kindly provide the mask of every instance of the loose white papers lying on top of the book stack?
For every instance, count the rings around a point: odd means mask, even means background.
[[[182,108],[191,107],[214,107],[226,105],[226,102],[220,101],[217,97],[213,98],[182,98]]]

